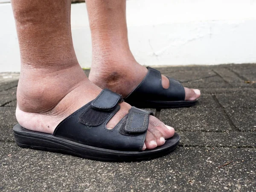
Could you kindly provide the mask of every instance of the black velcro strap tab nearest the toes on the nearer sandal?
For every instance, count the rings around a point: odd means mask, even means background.
[[[149,114],[151,113],[151,111],[132,107],[129,110],[128,119],[125,125],[125,132],[129,134],[140,134],[147,131]]]

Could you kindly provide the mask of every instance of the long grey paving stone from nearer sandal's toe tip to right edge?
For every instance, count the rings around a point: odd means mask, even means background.
[[[256,147],[256,132],[176,132],[181,138],[180,145],[184,146]]]

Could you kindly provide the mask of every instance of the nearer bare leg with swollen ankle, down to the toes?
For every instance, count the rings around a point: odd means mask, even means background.
[[[51,134],[64,118],[95,99],[101,89],[87,79],[76,59],[70,1],[12,0],[12,8],[21,55],[17,121],[29,130]],[[120,105],[108,122],[109,128],[131,108],[125,102]],[[150,119],[151,132],[145,143],[155,148],[164,144],[161,137],[172,137],[174,129],[153,116]]]

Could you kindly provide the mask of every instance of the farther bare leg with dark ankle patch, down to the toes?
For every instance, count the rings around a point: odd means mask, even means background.
[[[128,44],[125,0],[87,0],[93,46],[89,79],[101,88],[127,96],[143,80],[148,70],[137,63]],[[162,76],[164,88],[169,80]],[[185,87],[185,100],[195,100],[200,90]]]

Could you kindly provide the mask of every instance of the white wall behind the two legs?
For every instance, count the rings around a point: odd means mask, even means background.
[[[82,67],[90,67],[85,3],[72,4],[73,41]],[[256,63],[256,0],[129,0],[131,50],[140,64]],[[12,9],[0,4],[0,72],[19,71]]]

